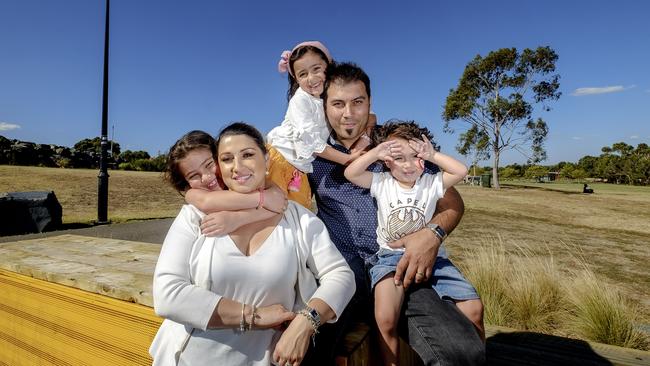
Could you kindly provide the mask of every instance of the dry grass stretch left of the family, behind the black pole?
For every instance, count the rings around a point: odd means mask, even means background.
[[[97,218],[97,170],[0,165],[0,192],[53,190],[64,224]],[[109,171],[108,217],[113,222],[174,217],[182,197],[160,173]]]

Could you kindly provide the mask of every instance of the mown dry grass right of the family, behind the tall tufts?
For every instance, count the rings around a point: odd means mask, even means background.
[[[584,195],[581,185],[542,186],[457,186],[465,215],[447,239],[452,258],[466,262],[486,238],[500,237],[513,255],[518,247],[528,248],[531,257],[552,253],[562,271],[584,259],[638,306],[641,322],[650,323],[650,187],[592,184],[596,193]]]

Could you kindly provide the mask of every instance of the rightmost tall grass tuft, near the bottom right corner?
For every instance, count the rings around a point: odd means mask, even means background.
[[[647,349],[648,337],[635,327],[637,312],[615,288],[585,269],[566,285],[568,324],[581,338],[621,347]],[[570,286],[570,288],[569,288]]]

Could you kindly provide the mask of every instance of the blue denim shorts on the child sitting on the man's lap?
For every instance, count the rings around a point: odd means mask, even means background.
[[[377,282],[386,275],[395,272],[402,254],[404,254],[402,251],[380,248],[377,253],[368,258],[366,267],[370,275],[371,289],[374,289]],[[438,250],[438,257],[433,265],[433,276],[429,281],[431,287],[436,290],[438,296],[443,300],[462,301],[479,298],[474,286],[465,279],[463,274],[447,257],[444,245],[441,245]]]

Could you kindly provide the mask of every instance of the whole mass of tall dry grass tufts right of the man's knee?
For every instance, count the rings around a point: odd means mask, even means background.
[[[647,349],[648,337],[634,327],[635,308],[596,278],[584,258],[579,273],[566,273],[547,255],[525,246],[506,251],[502,238],[488,239],[463,255],[459,267],[476,287],[486,324]]]

